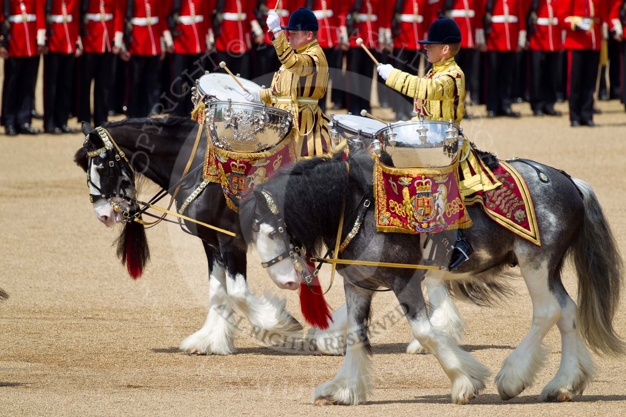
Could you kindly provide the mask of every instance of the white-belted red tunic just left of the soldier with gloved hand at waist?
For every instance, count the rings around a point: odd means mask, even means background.
[[[560,8],[563,0],[539,0],[536,14],[537,21],[533,24],[535,33],[530,35],[529,47],[532,51],[560,51],[561,41]]]

